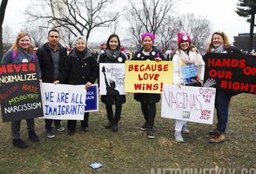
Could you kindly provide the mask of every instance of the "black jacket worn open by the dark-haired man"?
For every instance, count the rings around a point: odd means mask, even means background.
[[[48,45],[49,43],[44,43],[42,47],[37,50],[37,58],[42,71],[42,80],[46,83],[53,83],[54,79],[54,64],[51,56],[51,50]],[[61,67],[61,62],[67,57],[67,50],[61,45],[59,46],[59,67]]]

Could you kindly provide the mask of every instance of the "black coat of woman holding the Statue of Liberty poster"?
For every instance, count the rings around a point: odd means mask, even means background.
[[[110,57],[107,57],[106,53],[104,52],[99,56],[98,64],[100,63],[125,64],[125,60],[126,60],[126,57],[122,52],[120,52],[120,54],[117,56],[116,59],[111,59]],[[99,82],[99,77],[98,77],[98,82]],[[111,92],[111,93],[115,93],[115,92]],[[125,104],[126,97],[125,95],[104,95],[104,96],[101,96],[101,101],[104,104]]]

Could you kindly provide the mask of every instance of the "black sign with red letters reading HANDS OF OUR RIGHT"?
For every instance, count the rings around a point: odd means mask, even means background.
[[[246,54],[205,54],[205,82],[214,79],[219,90],[256,92],[256,57]]]

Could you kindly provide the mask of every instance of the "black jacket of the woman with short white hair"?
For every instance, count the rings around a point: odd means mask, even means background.
[[[62,62],[59,80],[61,84],[93,84],[97,77],[98,65],[91,51],[86,49],[79,54],[75,48]]]

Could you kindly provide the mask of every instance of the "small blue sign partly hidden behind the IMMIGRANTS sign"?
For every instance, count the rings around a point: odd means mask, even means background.
[[[98,111],[98,84],[87,90],[85,104],[85,112]]]

